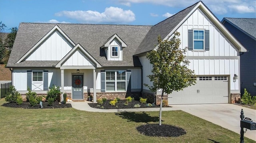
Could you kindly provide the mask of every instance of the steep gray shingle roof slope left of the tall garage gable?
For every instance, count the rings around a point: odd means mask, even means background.
[[[198,2],[196,4],[198,4]],[[136,50],[135,55],[153,50],[158,45],[158,35],[164,39],[189,14],[196,4],[154,25]]]

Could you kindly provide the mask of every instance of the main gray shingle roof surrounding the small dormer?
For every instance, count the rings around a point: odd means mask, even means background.
[[[80,43],[103,67],[141,66],[138,58],[133,57],[133,55],[152,27],[142,25],[21,23],[7,67],[52,67],[52,63],[49,61],[42,61],[40,64],[37,64],[38,61],[15,63],[55,25],[58,25],[74,43]],[[100,56],[100,46],[115,33],[127,44],[127,47],[123,49],[123,61],[107,61],[106,57]]]

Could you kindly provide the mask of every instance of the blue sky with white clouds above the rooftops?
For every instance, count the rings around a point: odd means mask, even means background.
[[[155,25],[198,0],[0,0],[0,22]],[[202,0],[221,21],[256,18],[256,0]]]

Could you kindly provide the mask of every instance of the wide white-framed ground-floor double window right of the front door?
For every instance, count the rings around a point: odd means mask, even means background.
[[[106,71],[106,91],[126,91],[126,71]]]

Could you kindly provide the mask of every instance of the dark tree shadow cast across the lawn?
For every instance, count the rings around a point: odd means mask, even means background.
[[[146,114],[146,112],[118,112],[117,116],[120,116],[123,119],[128,119],[128,121],[134,121],[136,123],[143,122],[158,122],[159,117],[152,117]]]

